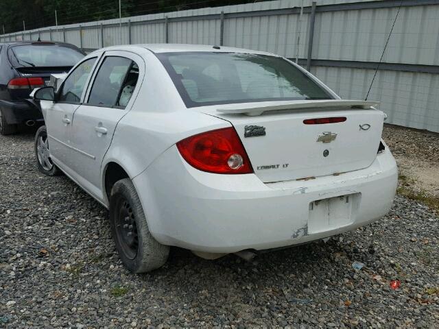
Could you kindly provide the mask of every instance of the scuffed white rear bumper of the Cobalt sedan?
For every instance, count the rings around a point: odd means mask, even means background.
[[[380,219],[392,206],[397,167],[386,149],[366,169],[264,184],[253,174],[198,171],[174,146],[133,182],[159,242],[229,253],[306,243]],[[348,219],[311,215],[313,202],[346,195],[353,202]]]

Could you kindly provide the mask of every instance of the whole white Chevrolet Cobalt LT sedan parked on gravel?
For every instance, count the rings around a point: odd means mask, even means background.
[[[287,247],[364,226],[394,198],[385,114],[342,100],[272,53],[130,45],[90,53],[33,93],[40,171],[110,210],[123,264],[170,246],[205,258]]]

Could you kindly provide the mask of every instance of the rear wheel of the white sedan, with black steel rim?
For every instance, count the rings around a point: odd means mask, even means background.
[[[149,272],[166,263],[169,246],[158,243],[151,235],[139,195],[129,178],[112,187],[110,226],[122,263],[132,273]]]

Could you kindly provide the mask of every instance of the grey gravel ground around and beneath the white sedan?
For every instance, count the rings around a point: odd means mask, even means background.
[[[0,136],[0,327],[439,328],[439,219],[423,204],[396,197],[372,226],[254,263],[174,248],[136,276],[106,210],[38,173],[32,147],[32,134]]]

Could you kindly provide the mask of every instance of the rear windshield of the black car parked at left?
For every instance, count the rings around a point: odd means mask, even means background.
[[[79,49],[62,45],[18,45],[9,49],[14,66],[73,66],[84,57]]]

